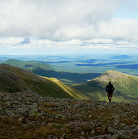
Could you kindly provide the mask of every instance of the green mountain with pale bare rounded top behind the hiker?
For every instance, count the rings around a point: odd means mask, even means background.
[[[117,71],[106,71],[99,77],[72,87],[81,91],[93,100],[107,100],[106,85],[112,82],[115,87],[113,101],[138,102],[138,77]]]

